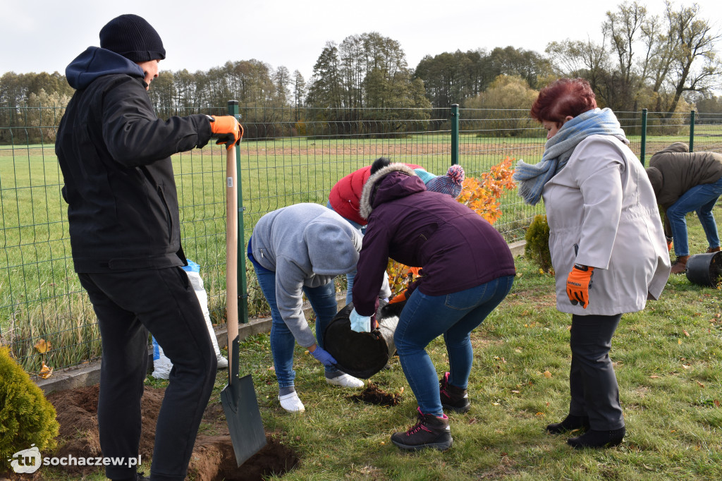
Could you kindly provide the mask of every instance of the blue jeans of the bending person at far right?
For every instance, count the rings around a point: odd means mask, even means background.
[[[666,216],[672,229],[674,254],[677,257],[690,255],[690,247],[687,244],[687,220],[684,218],[687,212],[697,212],[709,246],[720,246],[717,223],[712,215],[712,209],[721,195],[722,178],[719,178],[715,183],[705,183],[690,188],[667,209]]]

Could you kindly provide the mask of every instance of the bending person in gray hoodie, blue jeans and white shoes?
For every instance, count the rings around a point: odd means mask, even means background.
[[[334,277],[356,269],[361,239],[347,220],[319,204],[282,207],[261,217],[253,228],[248,259],[271,308],[271,354],[284,410],[305,410],[295,391],[295,342],[307,347],[325,366],[327,383],[364,385],[340,371],[333,356],[323,349],[323,332],[338,307]],[[303,294],[316,313],[316,337],[303,315]],[[380,295],[386,298],[390,294],[386,280]]]

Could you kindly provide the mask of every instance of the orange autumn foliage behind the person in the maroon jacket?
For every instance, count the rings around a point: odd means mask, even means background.
[[[511,178],[514,173],[514,169],[511,167],[514,160],[507,156],[494,165],[489,172],[482,173],[479,178],[466,177],[464,183],[461,184],[461,194],[456,200],[493,225],[502,215],[500,197],[505,190],[516,188],[516,183]],[[405,266],[388,259],[386,272],[391,292],[400,293],[406,289],[409,282],[414,280],[414,275],[418,275],[418,268]]]

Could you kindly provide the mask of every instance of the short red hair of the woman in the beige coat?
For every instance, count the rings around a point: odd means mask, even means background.
[[[596,108],[594,92],[585,79],[558,79],[544,87],[531,105],[529,114],[536,121],[563,123],[567,116]]]

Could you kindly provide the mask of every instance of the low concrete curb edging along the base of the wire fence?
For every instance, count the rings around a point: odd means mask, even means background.
[[[513,256],[523,256],[524,246],[526,241],[518,241],[510,243],[509,248]],[[339,293],[336,295],[336,302],[339,304],[339,309],[346,305],[346,292]],[[310,316],[313,313],[310,305],[306,303],[303,312],[305,316]],[[238,326],[238,339],[243,340],[256,334],[264,334],[271,332],[271,318],[264,317],[258,319],[251,319],[248,324],[239,324]],[[219,346],[227,345],[227,331],[225,327],[215,330],[216,339]],[[153,349],[152,347],[148,350],[149,357],[149,368],[152,370],[153,366]],[[92,386],[100,382],[100,360],[91,361],[88,364],[82,366],[74,366],[72,368],[61,369],[53,373],[48,379],[35,379],[35,384],[40,389],[49,394],[53,391],[64,391],[65,389],[75,389],[82,386]]]

